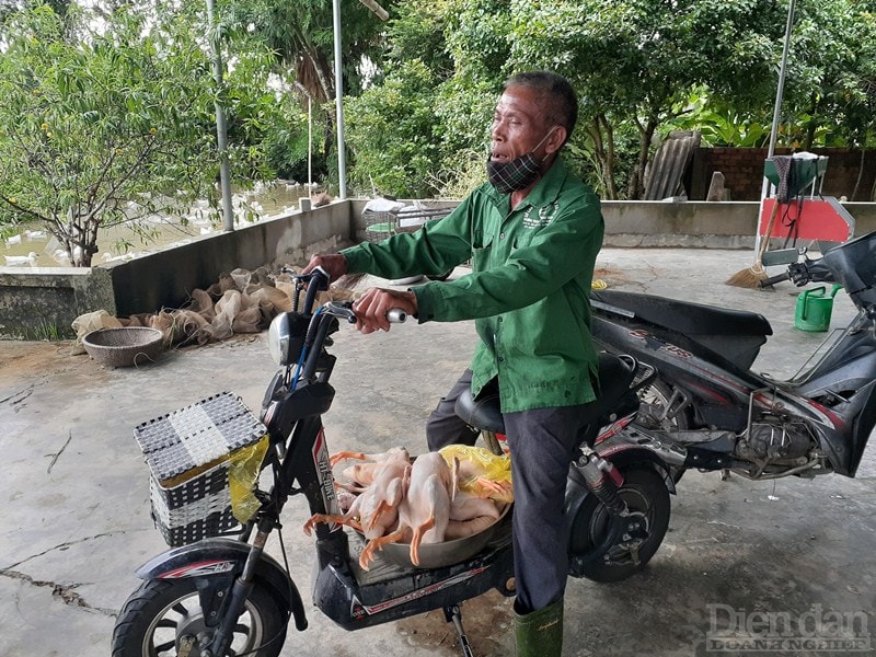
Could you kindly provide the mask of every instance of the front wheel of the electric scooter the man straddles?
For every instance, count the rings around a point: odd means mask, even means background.
[[[283,602],[256,583],[234,625],[233,652],[228,655],[276,657],[286,638],[288,618]],[[113,657],[175,657],[185,637],[203,632],[209,630],[193,580],[145,581],[118,614],[113,630]],[[192,650],[193,655],[199,653],[197,648]]]

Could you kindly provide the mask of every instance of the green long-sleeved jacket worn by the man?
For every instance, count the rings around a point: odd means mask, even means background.
[[[416,233],[342,253],[349,272],[384,278],[470,260],[469,276],[412,288],[418,319],[475,320],[472,392],[498,376],[502,411],[511,413],[595,399],[588,295],[602,233],[599,199],[558,158],[514,211],[509,195],[485,184]]]

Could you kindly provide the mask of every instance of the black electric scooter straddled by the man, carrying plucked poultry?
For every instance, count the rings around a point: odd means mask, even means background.
[[[269,448],[261,463],[266,477],[260,475],[258,482],[261,487],[268,479],[270,485],[255,491],[257,511],[234,538],[208,535],[155,556],[137,570],[143,583],[118,614],[114,657],[275,656],[290,621],[299,631],[308,626],[288,560],[280,565],[265,553],[265,545],[280,528],[281,512],[292,496],[303,496],[310,514],[339,512],[322,416],[335,395],[330,384],[336,362],[328,353],[331,336],[341,322],[355,322],[355,315],[348,302],[314,309],[316,291],[327,289],[323,270],[297,276],[296,281],[299,291],[307,290],[303,308],[299,312],[296,303],[293,311],[277,315],[268,332],[270,353],[280,369],[262,404],[261,422]],[[404,316],[392,311],[388,319],[403,321]],[[637,390],[654,373],[631,357],[606,354],[600,359],[602,394],[570,463],[565,499],[575,577],[630,576],[650,560],[667,530],[669,494],[675,488],[666,464],[635,445],[606,454],[592,448],[600,437],[633,420]],[[503,429],[496,399],[469,399],[461,402],[460,411],[473,426]],[[338,523],[319,523],[313,603],[345,630],[442,609],[463,654],[471,655],[461,603],[491,589],[514,595],[510,514],[512,505],[474,554],[451,554],[414,567],[385,560],[387,545],[368,570],[358,563],[361,535]],[[283,546],[281,532],[277,533]],[[283,554],[286,558],[285,548]]]

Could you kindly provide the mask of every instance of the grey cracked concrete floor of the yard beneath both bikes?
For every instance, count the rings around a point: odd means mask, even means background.
[[[762,312],[775,335],[756,368],[791,374],[825,335],[793,328],[798,290],[788,284],[774,292],[723,285],[750,262],[739,251],[606,250],[597,276],[616,289]],[[832,326],[851,315],[840,293]],[[138,584],[134,570],[165,548],[149,516],[148,472],[132,429],[223,390],[257,407],[274,372],[265,338],[176,350],[139,369],[104,369],[71,356],[69,343],[0,342],[0,655],[108,653],[115,613]],[[330,450],[402,443],[423,451],[423,423],[474,339],[468,323],[408,323],[372,336],[339,332],[337,396],[325,417]],[[816,618],[841,618],[854,622],[846,636],[874,644],[874,503],[873,448],[855,480],[722,482],[689,473],[672,499],[664,545],[644,573],[614,585],[569,580],[564,654],[708,655],[713,619],[724,623],[731,611],[762,636],[770,620],[789,619],[805,631]],[[440,612],[348,633],[310,607],[306,519],[303,503],[293,499],[285,537],[310,629],[290,634],[284,656],[459,654]],[[475,655],[514,654],[509,619],[510,600],[495,593],[464,604]],[[822,655],[823,647],[809,642],[772,654]]]

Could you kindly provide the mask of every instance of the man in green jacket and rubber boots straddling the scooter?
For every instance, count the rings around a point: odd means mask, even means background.
[[[331,278],[440,274],[468,260],[472,273],[407,291],[369,289],[354,306],[364,333],[388,331],[387,311],[419,322],[475,320],[471,369],[439,403],[429,448],[474,435],[452,406],[465,387],[498,390],[515,494],[515,625],[518,655],[560,655],[567,534],[563,499],[580,415],[596,397],[597,355],[588,293],[603,221],[599,200],[560,155],[577,100],[560,76],[534,71],[505,83],[493,117],[489,183],[448,217],[414,234],[316,255]]]

